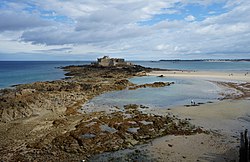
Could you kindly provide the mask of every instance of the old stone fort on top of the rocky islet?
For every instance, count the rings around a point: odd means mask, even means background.
[[[109,56],[104,56],[103,58],[98,58],[97,62],[94,63],[98,66],[126,66],[132,65],[130,62],[126,62],[124,59],[121,58],[110,58]]]

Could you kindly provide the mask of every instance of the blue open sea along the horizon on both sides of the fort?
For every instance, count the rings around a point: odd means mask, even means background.
[[[17,84],[36,81],[52,81],[65,78],[65,72],[59,67],[69,65],[87,65],[93,61],[0,61],[0,88],[9,88]],[[194,71],[250,71],[248,61],[130,61],[145,67],[170,70]]]

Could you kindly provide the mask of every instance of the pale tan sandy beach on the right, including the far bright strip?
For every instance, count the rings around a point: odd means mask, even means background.
[[[246,73],[153,71],[150,76],[205,79],[210,81],[250,81]],[[245,89],[249,91],[249,89]],[[210,134],[165,136],[153,140],[147,149],[158,161],[238,161],[240,132],[250,129],[250,100],[223,100],[194,107],[178,106],[155,109],[155,113],[172,114],[209,130]]]

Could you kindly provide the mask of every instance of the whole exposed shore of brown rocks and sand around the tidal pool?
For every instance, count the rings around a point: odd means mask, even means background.
[[[2,160],[238,160],[240,132],[250,129],[248,74],[155,71],[142,66],[83,65],[63,69],[69,76],[63,80],[1,91]],[[221,87],[224,98],[171,108],[133,103],[123,107],[83,106],[110,91],[167,90],[175,85],[134,84],[129,80],[147,76],[195,78],[194,83],[206,80]]]

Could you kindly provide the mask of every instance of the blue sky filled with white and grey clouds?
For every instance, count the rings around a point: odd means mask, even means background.
[[[250,0],[1,0],[0,60],[250,58]]]

